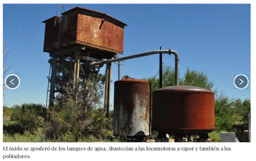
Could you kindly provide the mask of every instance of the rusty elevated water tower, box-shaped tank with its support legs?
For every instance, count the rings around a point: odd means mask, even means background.
[[[76,7],[44,21],[44,52],[49,52],[51,68],[49,77],[49,105],[54,105],[56,92],[56,66],[67,65],[74,82],[79,81],[79,72],[83,70],[88,77],[89,63],[111,59],[123,54],[124,22],[106,13]],[[62,61],[58,61],[63,57]],[[68,57],[65,59],[65,57]],[[65,61],[64,61],[65,60]],[[82,69],[81,69],[82,68]],[[111,83],[111,64],[106,65],[106,88],[104,108],[109,109]]]

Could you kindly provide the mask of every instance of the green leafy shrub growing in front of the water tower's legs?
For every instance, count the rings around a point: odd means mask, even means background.
[[[71,137],[69,141],[77,141],[89,134],[97,135],[99,130],[92,127],[104,129],[101,126],[104,114],[100,112],[103,88],[97,78],[79,82],[76,88],[73,88],[73,82],[70,81],[71,86],[63,88],[65,95],[57,96],[51,119],[43,130],[47,137],[58,139],[68,135]]]

